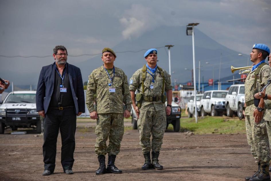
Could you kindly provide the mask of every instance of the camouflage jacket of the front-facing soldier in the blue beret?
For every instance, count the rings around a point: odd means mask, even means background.
[[[146,74],[146,79],[144,81],[144,94],[145,96],[150,96],[150,97],[158,97],[162,95],[162,92],[164,93],[167,90],[172,89],[171,86],[171,80],[170,80],[170,75],[163,69],[164,76],[165,76],[165,85],[164,85],[164,90],[162,91],[162,86],[163,86],[163,77],[161,76],[160,70],[157,68],[155,71],[155,76],[154,76],[154,83],[152,83],[153,77],[147,72]],[[150,88],[150,85],[153,84],[153,89]],[[142,92],[142,68],[137,70],[133,75],[132,78],[130,79],[130,86],[129,86],[131,91],[136,91],[138,90],[139,93]],[[142,110],[162,110],[165,109],[165,103],[162,103],[162,101],[142,101]]]

